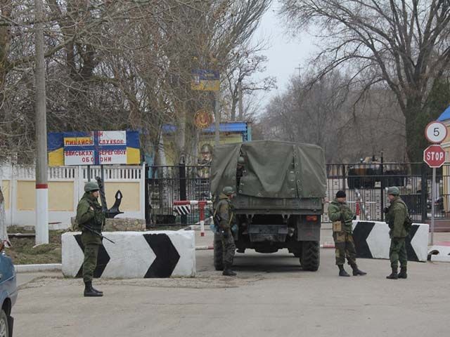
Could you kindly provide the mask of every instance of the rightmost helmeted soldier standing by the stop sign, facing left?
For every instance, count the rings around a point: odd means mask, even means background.
[[[392,273],[387,279],[406,279],[406,265],[408,256],[406,255],[405,237],[408,232],[404,226],[406,217],[408,216],[408,208],[403,200],[399,197],[400,191],[398,187],[389,187],[387,189],[387,197],[390,206],[385,209],[386,223],[390,227],[389,236],[391,238],[391,246],[389,249],[389,258],[391,261]],[[398,263],[400,261],[400,273],[397,274]]]

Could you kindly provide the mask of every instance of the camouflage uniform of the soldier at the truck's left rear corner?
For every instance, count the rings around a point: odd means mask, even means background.
[[[233,265],[234,252],[236,251],[236,245],[234,244],[233,232],[231,227],[235,221],[233,206],[226,194],[221,193],[219,195],[219,202],[216,206],[217,213],[221,218],[219,227],[221,232],[221,242],[224,251],[224,266],[231,267]]]

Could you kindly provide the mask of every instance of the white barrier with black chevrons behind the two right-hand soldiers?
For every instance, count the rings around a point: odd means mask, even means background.
[[[428,256],[427,224],[415,223],[406,237],[408,260],[426,262]],[[353,239],[359,258],[389,258],[389,227],[378,221],[354,221]]]

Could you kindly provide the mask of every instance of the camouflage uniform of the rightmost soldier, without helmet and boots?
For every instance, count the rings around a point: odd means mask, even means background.
[[[390,227],[389,235],[391,238],[391,246],[389,250],[389,258],[391,267],[397,269],[400,261],[400,267],[406,269],[408,256],[406,255],[405,237],[408,232],[404,223],[408,216],[408,209],[403,200],[396,196],[387,211],[386,223]]]

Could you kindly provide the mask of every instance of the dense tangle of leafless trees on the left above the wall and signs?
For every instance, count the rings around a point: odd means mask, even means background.
[[[209,93],[191,90],[191,72],[233,72],[232,52],[248,44],[269,4],[46,0],[49,131],[135,128],[144,150],[158,152],[162,125],[175,124],[176,157],[193,157],[193,114],[212,107]],[[32,161],[32,1],[1,0],[0,9],[0,153]]]

